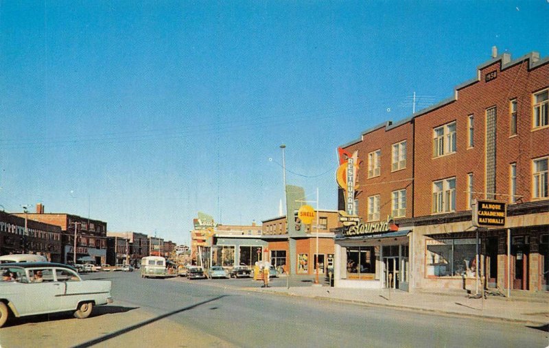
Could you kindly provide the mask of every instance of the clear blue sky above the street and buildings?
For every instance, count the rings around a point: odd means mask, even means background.
[[[549,54],[549,1],[0,0],[0,205],[188,243],[192,219],[337,208],[336,148]],[[0,207],[2,208],[2,207]]]

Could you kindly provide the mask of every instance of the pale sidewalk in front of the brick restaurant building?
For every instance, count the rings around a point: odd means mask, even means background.
[[[343,301],[364,306],[384,306],[395,309],[498,319],[533,325],[547,325],[549,323],[549,300],[546,301],[549,297],[545,296],[546,294],[541,294],[536,301],[530,301],[528,299],[513,299],[513,295],[509,299],[494,296],[489,296],[487,299],[474,299],[469,298],[466,294],[406,293],[393,289],[368,290],[331,288],[328,286],[299,286],[290,287],[290,289],[279,286],[246,288],[246,290]]]

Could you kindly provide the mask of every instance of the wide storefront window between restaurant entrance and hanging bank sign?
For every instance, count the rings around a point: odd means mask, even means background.
[[[465,275],[476,272],[476,240],[438,239],[427,241],[426,271],[430,277]]]

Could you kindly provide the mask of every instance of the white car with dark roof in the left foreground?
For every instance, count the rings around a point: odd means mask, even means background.
[[[113,302],[110,287],[108,280],[82,280],[65,264],[2,264],[0,327],[12,314],[20,317],[71,311],[76,318],[87,318],[93,306]]]

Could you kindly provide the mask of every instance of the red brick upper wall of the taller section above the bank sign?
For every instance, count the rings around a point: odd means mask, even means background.
[[[458,99],[414,119],[415,205],[414,216],[431,214],[432,182],[456,177],[456,211],[467,210],[467,173],[474,174],[474,191],[484,192],[484,140],[486,110],[497,108],[496,192],[509,195],[509,165],[517,163],[517,195],[531,199],[532,160],[549,154],[549,128],[532,130],[533,92],[549,86],[549,64],[528,71],[528,62],[501,71],[496,62],[480,71],[480,81],[458,90]],[[486,73],[498,77],[485,82]],[[517,136],[510,136],[509,102],[517,99]],[[467,149],[467,118],[474,114],[474,148]],[[432,158],[433,129],[456,121],[456,153]],[[484,198],[477,195],[474,198]],[[509,196],[496,199],[509,201]]]

